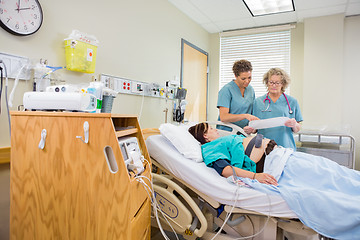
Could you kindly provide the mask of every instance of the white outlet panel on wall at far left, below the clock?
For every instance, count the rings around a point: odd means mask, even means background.
[[[31,72],[30,68],[26,65],[29,65],[29,59],[26,57],[15,56],[7,53],[0,53],[0,60],[2,60],[2,64],[6,66],[7,77],[8,78],[16,78],[22,80],[30,80]],[[3,66],[0,64],[0,66]],[[25,66],[25,67],[24,67]],[[24,67],[24,68],[23,68]],[[22,69],[20,75],[19,71]],[[19,76],[18,76],[19,75]]]

